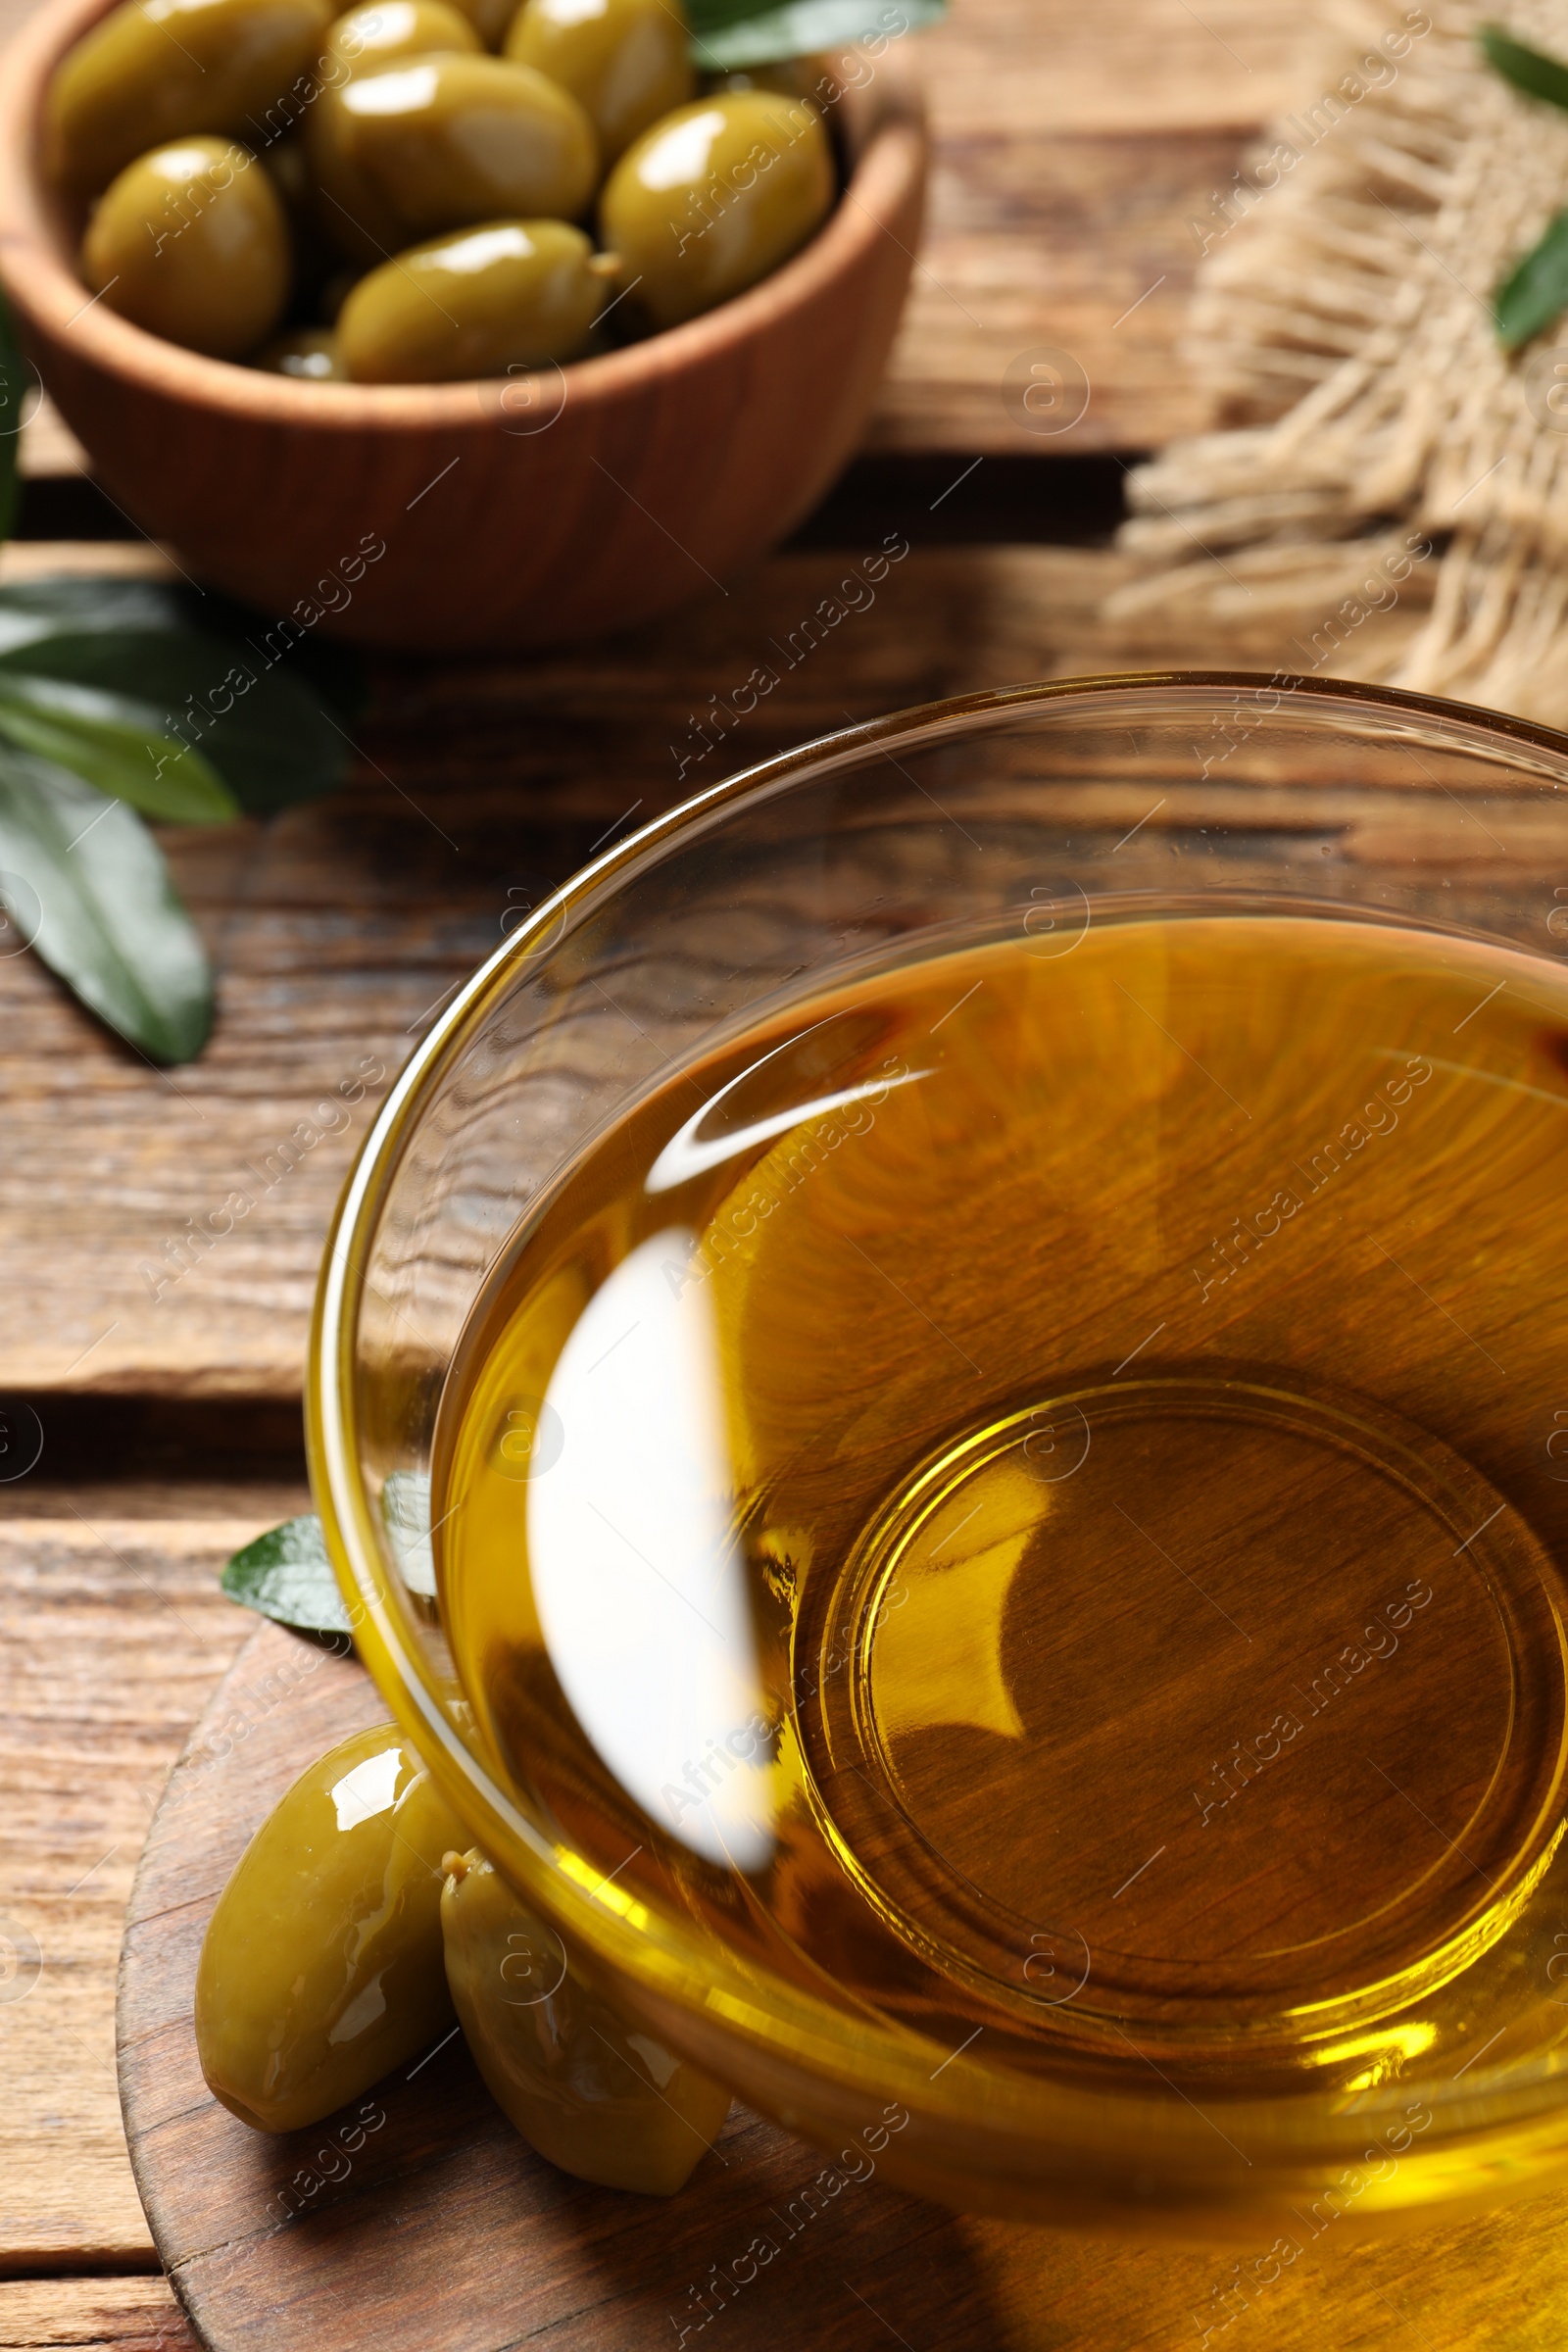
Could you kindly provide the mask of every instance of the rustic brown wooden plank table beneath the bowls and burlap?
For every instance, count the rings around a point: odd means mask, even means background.
[[[0,24],[24,5],[5,0]],[[907,532],[912,557],[733,734],[724,764],[1027,675],[1272,666],[1316,619],[1302,590],[1300,612],[1258,604],[1222,642],[1171,621],[1140,637],[1098,619],[1121,557],[1051,543],[1053,515],[1081,510],[1093,459],[1206,421],[1175,355],[1197,252],[1187,219],[1293,92],[1312,33],[1293,0],[957,0],[919,52],[933,223],[877,456],[806,543],[609,644],[381,663],[341,797],[268,828],[174,837],[221,974],[195,1068],[153,1070],[42,967],[0,962],[0,1390],[31,1399],[45,1428],[40,1465],[0,1484],[0,2352],[190,2343],[120,2133],[120,1919],[165,1773],[249,1632],[216,1569],[306,1508],[301,1364],[334,1192],[388,1077],[508,908],[595,837],[679,797],[670,746],[691,715],[884,529]],[[1063,445],[1027,435],[1001,400],[1009,360],[1034,346],[1072,350],[1091,381]],[[47,416],[26,466],[33,513],[63,513],[80,452]],[[78,510],[94,513],[87,494]],[[0,579],[160,562],[125,539],[31,539],[0,550]],[[701,781],[708,769],[684,788]],[[179,1270],[186,1221],[360,1070],[381,1077],[355,1129]],[[985,2258],[1011,2265],[999,2307],[1016,2343],[1041,2352],[1194,2343],[1227,2277],[1213,2253],[1051,2237],[1025,2270],[997,2244]],[[898,2281],[872,2300],[867,2347],[898,2333]],[[1568,2232],[1530,2206],[1324,2253],[1232,2326],[1234,2343],[1274,2347],[1512,2352],[1561,2345],[1554,2305],[1568,2312]],[[914,2352],[964,2340],[926,2324]]]

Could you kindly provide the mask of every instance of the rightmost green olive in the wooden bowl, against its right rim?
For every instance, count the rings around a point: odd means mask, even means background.
[[[675,327],[757,285],[832,209],[823,118],[766,89],[698,99],[625,151],[599,198],[637,303]]]

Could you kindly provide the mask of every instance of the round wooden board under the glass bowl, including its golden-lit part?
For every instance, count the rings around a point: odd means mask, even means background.
[[[383,1712],[353,1663],[299,1677],[299,1656],[296,1639],[261,1628],[223,1679],[169,1778],[125,1940],[132,2154],[160,2253],[212,2352],[364,2340],[376,2352],[501,2352],[524,2340],[632,2352],[698,2343],[708,2326],[722,2326],[712,2340],[733,2352],[870,2352],[889,2338],[919,2352],[1178,2352],[1204,2328],[1211,2345],[1265,2352],[1561,2345],[1561,2199],[1347,2251],[1324,2237],[1272,2286],[1225,2303],[1215,2291],[1234,2267],[1222,2253],[966,2220],[877,2176],[842,2185],[806,2225],[790,2201],[823,2154],[743,2107],[668,2204],[574,2183],[510,2131],[461,2042],[376,2089],[386,2124],[355,2147],[348,2173],[320,2157],[334,2145],[331,2119],[284,2138],[247,2131],[195,2063],[200,1936],[268,1804],[334,1738]],[[233,1724],[252,1729],[221,1757]],[[299,2211],[284,2223],[289,2185]],[[741,2286],[715,2286],[759,2230],[778,2256]]]

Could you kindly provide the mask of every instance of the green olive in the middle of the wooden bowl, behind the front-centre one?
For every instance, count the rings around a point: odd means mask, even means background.
[[[592,122],[564,89],[498,56],[409,56],[334,96],[348,165],[411,238],[473,221],[571,221],[597,179]]]

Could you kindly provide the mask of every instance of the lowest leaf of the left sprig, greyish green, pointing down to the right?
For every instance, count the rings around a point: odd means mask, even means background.
[[[101,1021],[155,1061],[212,1028],[207,950],[134,809],[0,746],[0,901]]]

